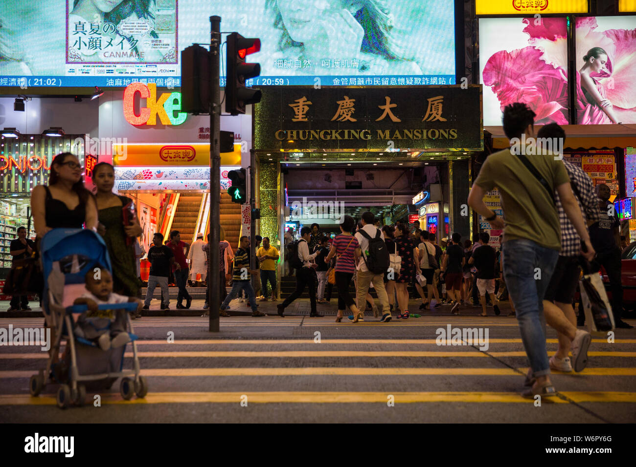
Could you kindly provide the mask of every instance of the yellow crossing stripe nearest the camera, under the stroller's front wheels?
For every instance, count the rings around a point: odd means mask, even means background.
[[[607,392],[563,392],[575,402],[636,402],[636,393]],[[388,396],[394,396],[395,403],[424,402],[490,402],[490,403],[534,403],[534,399],[523,398],[518,393],[497,392],[177,392],[149,393],[145,398],[130,401],[118,394],[102,395],[101,402],[107,404],[148,404],[148,403],[240,403],[247,396],[248,403],[387,403]],[[558,397],[545,397],[545,403],[568,403]],[[50,396],[31,397],[28,395],[0,395],[0,405],[55,405]],[[90,407],[89,407],[90,409]]]

